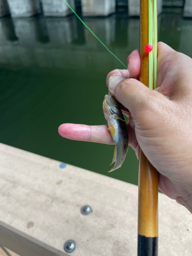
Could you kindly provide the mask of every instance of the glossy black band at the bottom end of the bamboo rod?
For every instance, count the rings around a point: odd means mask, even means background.
[[[158,237],[147,238],[138,234],[137,256],[158,256]]]

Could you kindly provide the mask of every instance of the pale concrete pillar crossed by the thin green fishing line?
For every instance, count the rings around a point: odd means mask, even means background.
[[[41,0],[42,10],[45,16],[66,16],[72,13],[63,0]],[[75,9],[75,1],[68,0],[69,5]]]

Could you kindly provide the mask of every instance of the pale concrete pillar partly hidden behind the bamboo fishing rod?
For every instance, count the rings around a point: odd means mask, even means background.
[[[157,0],[157,14],[162,12],[162,0]],[[139,16],[140,15],[140,0],[128,0],[128,12],[129,16]]]

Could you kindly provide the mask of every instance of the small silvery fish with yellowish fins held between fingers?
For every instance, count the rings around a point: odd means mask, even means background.
[[[112,172],[121,167],[125,159],[129,145],[128,133],[120,105],[110,93],[104,96],[103,113],[106,121],[108,121],[108,130],[115,142],[115,151],[111,163],[112,165],[115,162],[115,165],[109,171]]]

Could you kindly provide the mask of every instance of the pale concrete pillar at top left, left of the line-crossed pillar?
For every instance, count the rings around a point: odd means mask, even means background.
[[[41,12],[40,0],[8,0],[12,17],[30,17]]]

